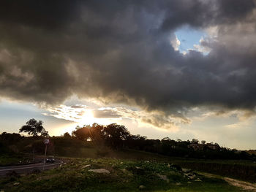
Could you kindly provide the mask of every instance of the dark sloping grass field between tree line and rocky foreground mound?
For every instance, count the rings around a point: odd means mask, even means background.
[[[64,148],[64,156],[72,157],[69,154],[70,148]],[[102,151],[104,153],[102,153]],[[168,163],[179,164],[189,169],[195,169],[201,172],[209,172],[212,174],[219,174],[225,177],[233,177],[238,180],[256,182],[256,163],[253,161],[239,161],[239,160],[207,160],[207,159],[192,159],[192,158],[178,158],[165,155],[159,155],[157,153],[147,153],[138,150],[110,150],[103,148],[102,150],[96,150],[95,147],[80,147],[76,150],[78,153],[76,157],[82,158],[99,158],[102,156],[111,158],[121,158],[129,160],[156,160],[165,161]]]

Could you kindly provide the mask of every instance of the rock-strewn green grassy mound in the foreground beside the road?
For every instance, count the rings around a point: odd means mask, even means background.
[[[89,167],[84,167],[86,165]],[[137,168],[136,168],[137,167]],[[107,169],[110,174],[89,172]],[[158,174],[169,180],[162,180]],[[159,161],[121,160],[116,158],[72,158],[67,164],[41,172],[6,177],[0,180],[4,191],[241,191],[224,180],[197,175],[202,182],[190,180],[178,167]],[[15,186],[15,183],[19,183]],[[145,188],[140,189],[143,185]]]

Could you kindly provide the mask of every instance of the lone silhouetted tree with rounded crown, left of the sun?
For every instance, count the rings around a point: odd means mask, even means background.
[[[45,128],[42,126],[42,123],[42,120],[37,121],[32,118],[26,122],[25,126],[20,128],[20,133],[25,132],[35,137],[37,137],[38,134],[41,134],[41,136],[47,137],[49,136],[48,131],[45,130]]]

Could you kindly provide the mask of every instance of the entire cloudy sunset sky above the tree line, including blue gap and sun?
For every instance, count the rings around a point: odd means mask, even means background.
[[[256,1],[1,1],[0,133],[119,123],[256,148]]]

